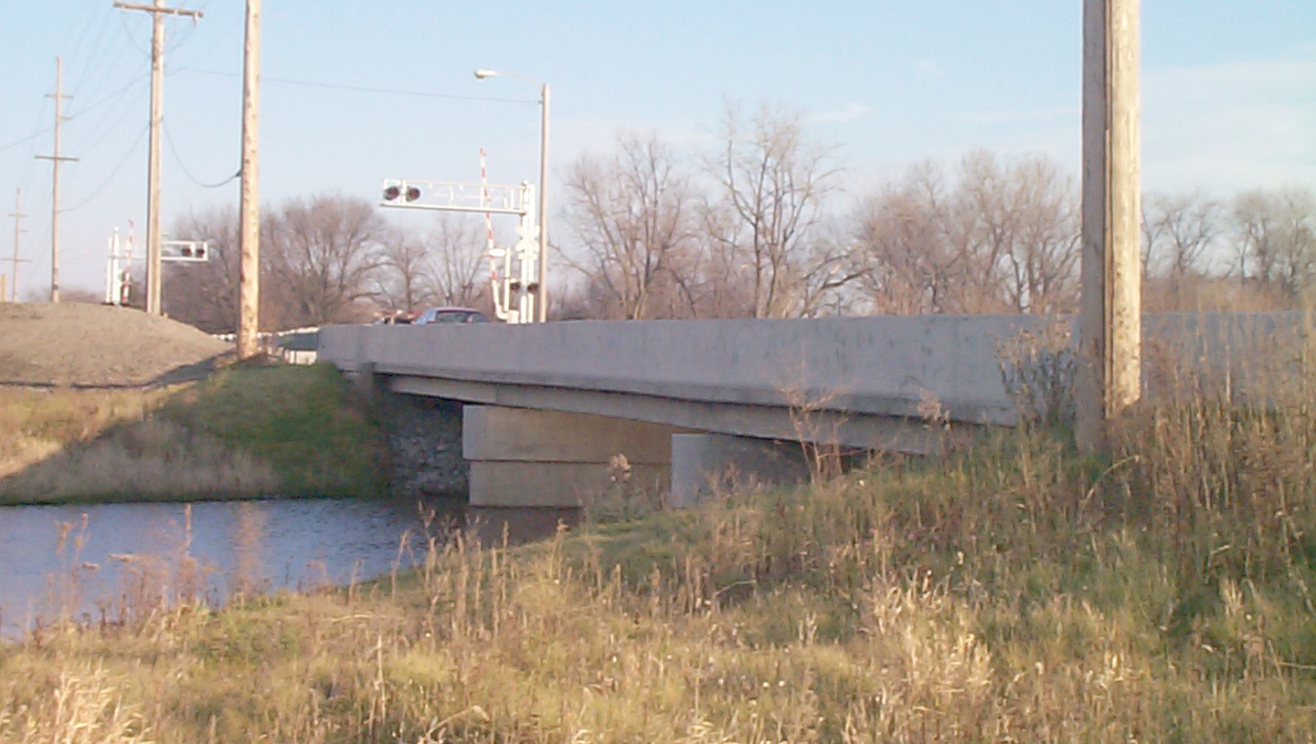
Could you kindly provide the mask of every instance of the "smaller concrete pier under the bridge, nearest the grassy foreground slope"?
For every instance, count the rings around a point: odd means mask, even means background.
[[[715,489],[797,484],[808,477],[797,443],[730,434],[671,435],[672,506],[694,506]]]

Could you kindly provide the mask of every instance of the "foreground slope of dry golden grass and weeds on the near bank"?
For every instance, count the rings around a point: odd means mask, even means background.
[[[0,647],[0,741],[1312,741],[1313,402],[50,630]]]

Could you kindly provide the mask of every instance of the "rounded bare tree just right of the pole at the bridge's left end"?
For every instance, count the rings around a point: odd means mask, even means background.
[[[266,233],[262,259],[275,280],[268,293],[279,325],[362,314],[355,304],[374,294],[374,275],[384,263],[387,225],[372,204],[337,195],[292,198],[270,217]]]

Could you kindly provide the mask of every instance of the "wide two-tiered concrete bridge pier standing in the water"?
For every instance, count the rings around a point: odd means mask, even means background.
[[[666,492],[675,431],[603,415],[465,406],[470,503],[571,507],[615,488]]]

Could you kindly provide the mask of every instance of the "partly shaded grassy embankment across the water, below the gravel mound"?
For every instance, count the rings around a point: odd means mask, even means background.
[[[166,389],[0,389],[0,503],[382,490],[378,426],[328,365]]]

